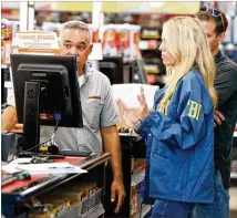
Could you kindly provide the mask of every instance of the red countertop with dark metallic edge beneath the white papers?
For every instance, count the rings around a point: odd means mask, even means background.
[[[89,157],[69,157],[55,159],[56,163],[68,162],[90,170],[110,159],[110,153],[94,154]],[[16,180],[2,187],[1,196],[3,204],[17,204],[29,199],[32,196],[45,193],[80,174],[59,174],[59,175],[32,175],[28,180]]]

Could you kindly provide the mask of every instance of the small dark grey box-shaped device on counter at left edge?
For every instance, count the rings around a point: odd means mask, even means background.
[[[14,133],[1,132],[1,160],[11,162],[18,153],[18,138]]]

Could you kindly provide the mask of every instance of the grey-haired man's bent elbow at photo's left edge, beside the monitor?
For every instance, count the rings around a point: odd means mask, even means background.
[[[18,123],[17,110],[13,106],[8,106],[1,115],[1,129],[11,131]]]

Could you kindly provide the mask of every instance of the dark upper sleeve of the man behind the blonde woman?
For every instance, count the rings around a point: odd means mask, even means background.
[[[221,72],[219,71],[216,75],[214,85],[217,91],[218,107],[220,107],[237,90],[237,70],[233,68],[221,68]]]

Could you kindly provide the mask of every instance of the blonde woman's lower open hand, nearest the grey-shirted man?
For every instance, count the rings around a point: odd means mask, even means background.
[[[128,108],[121,98],[118,98],[116,103],[117,103],[118,114],[121,120],[124,121],[125,125],[128,128],[135,128],[138,122],[138,117],[136,117],[134,111],[132,108]]]

